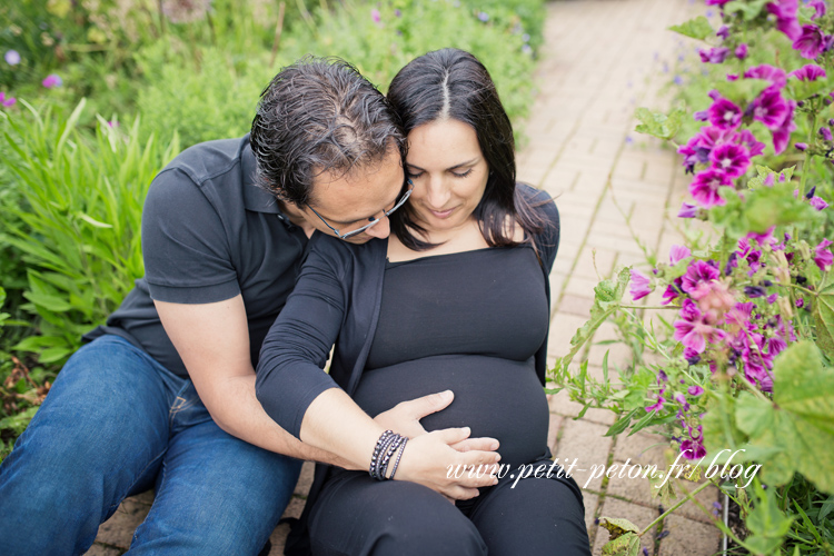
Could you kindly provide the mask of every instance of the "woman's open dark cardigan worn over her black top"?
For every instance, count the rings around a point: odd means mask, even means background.
[[[550,224],[534,239],[538,248],[545,291],[559,245],[559,215],[545,192],[519,185],[523,193]],[[324,390],[341,387],[353,395],[374,340],[383,291],[388,242],[350,245],[315,234],[294,290],[261,348],[256,391],[267,414],[298,436],[309,404]],[[321,371],[336,341],[330,374]],[[535,356],[536,376],[545,384],[547,339]],[[286,554],[309,554],[307,520],[330,467],[317,465],[307,505],[287,542]]]

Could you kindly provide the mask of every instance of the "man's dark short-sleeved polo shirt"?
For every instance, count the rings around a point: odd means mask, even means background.
[[[264,337],[295,286],[307,237],[254,185],[255,165],[247,135],[190,147],[159,172],[142,212],[145,277],[85,340],[116,334],[185,377],[153,299],[210,304],[241,294],[257,366]]]

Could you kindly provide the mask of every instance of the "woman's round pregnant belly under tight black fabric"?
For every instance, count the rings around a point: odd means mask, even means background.
[[[471,427],[473,437],[497,438],[502,464],[530,463],[547,447],[548,408],[534,361],[435,356],[366,371],[354,399],[371,417],[400,401],[455,393],[444,410],[425,417],[426,430]]]

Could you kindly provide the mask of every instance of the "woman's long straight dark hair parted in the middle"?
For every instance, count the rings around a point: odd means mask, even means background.
[[[406,133],[436,120],[453,119],[475,129],[489,168],[484,197],[475,209],[480,232],[490,247],[518,245],[513,239],[518,222],[528,240],[544,231],[547,222],[516,187],[513,125],[498,98],[489,72],[469,52],[445,48],[411,60],[399,70],[388,89],[388,100],[403,119]],[[407,248],[421,251],[435,247],[415,237],[425,229],[414,221],[408,205],[391,215],[391,230]],[[534,244],[535,247],[535,244]]]

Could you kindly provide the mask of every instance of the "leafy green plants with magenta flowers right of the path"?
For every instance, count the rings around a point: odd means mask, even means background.
[[[699,17],[672,28],[702,41],[708,69],[681,93],[692,103],[641,109],[637,130],[679,141],[692,199],[677,216],[713,232],[649,257],[648,272],[600,282],[553,379],[586,408],[619,414],[609,435],[667,430],[687,476],[705,475],[741,506],[743,537],[705,508],[739,550],[832,554],[834,13],[822,0],[706,4],[715,26]],[[638,302],[648,296],[657,306]],[[607,358],[603,380],[586,364],[570,368],[607,319],[633,348],[619,381]],[[711,464],[745,478],[711,476]],[[656,492],[668,498],[672,485]],[[647,530],[613,534],[607,554],[636,555]]]

